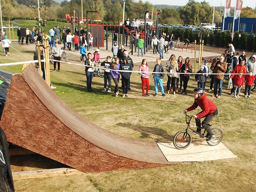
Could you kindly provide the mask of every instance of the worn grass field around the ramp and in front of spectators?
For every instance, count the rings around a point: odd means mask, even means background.
[[[18,46],[18,45],[17,45]],[[21,48],[25,49],[25,48]],[[33,51],[23,53],[33,58]],[[3,54],[0,62],[27,60],[17,55],[7,60]],[[24,57],[24,59],[23,59]],[[154,63],[149,63],[153,70]],[[19,73],[22,66],[0,67]],[[52,69],[52,65],[50,69]],[[139,65],[135,65],[139,68]],[[164,78],[167,80],[167,77]],[[173,135],[185,129],[183,110],[192,105],[192,90],[196,81],[192,76],[188,83],[188,95],[158,96],[154,99],[174,100],[176,102],[132,100],[112,97],[112,92],[101,92],[103,78],[93,77],[92,87],[95,92],[86,91],[84,67],[61,64],[61,72],[51,72],[53,90],[65,103],[84,118],[113,133],[139,140],[172,142]],[[135,98],[141,97],[141,81],[138,74],[132,74],[132,91]],[[112,82],[112,84],[114,84]],[[121,84],[121,83],[120,83]],[[209,88],[207,81],[206,89]],[[251,98],[232,98],[223,85],[221,99],[209,97],[219,109],[219,115],[212,121],[213,127],[220,127],[224,132],[223,144],[237,158],[205,162],[186,162],[181,165],[138,169],[129,171],[111,171],[95,174],[49,177],[14,181],[16,191],[255,191],[256,180],[256,129],[255,106],[256,94]],[[121,90],[120,90],[121,91]],[[243,96],[244,87],[240,96]],[[150,77],[150,99],[153,99],[154,83]],[[198,113],[197,109],[195,113]],[[194,114],[192,112],[190,115]],[[200,139],[193,136],[193,141]],[[214,156],[214,152],[209,152]],[[29,161],[29,160],[28,160]],[[28,165],[28,162],[24,163]],[[40,165],[38,165],[40,167]]]

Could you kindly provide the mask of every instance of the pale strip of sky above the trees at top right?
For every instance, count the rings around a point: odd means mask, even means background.
[[[143,2],[148,1],[149,3],[152,4],[166,4],[166,5],[180,5],[180,6],[184,6],[188,3],[188,0],[179,0],[179,1],[174,1],[174,0],[142,0]],[[196,0],[197,2],[202,2],[203,0]],[[214,4],[214,0],[205,0],[206,2],[209,2],[209,4],[211,6],[213,6]],[[235,1],[236,0],[231,0],[231,7],[235,7]],[[225,0],[215,0],[215,6],[225,6]],[[254,4],[252,3],[254,2]],[[255,0],[243,0],[243,7],[252,7],[252,9],[255,8],[256,3]]]

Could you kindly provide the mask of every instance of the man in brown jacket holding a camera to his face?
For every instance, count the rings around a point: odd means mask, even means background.
[[[216,97],[217,99],[219,99],[219,98],[221,98],[221,93],[222,93],[222,84],[223,84],[223,79],[224,79],[224,73],[227,70],[227,63],[224,61],[223,55],[221,55],[220,58],[217,58],[212,63],[212,68],[213,68],[212,73],[216,74],[216,75],[213,75],[214,91],[213,91],[212,97]],[[219,91],[218,91],[218,85],[219,85]]]

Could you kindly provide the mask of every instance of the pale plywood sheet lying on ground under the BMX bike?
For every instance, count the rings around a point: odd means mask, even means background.
[[[223,143],[210,146],[206,141],[192,142],[186,149],[177,149],[173,143],[157,143],[167,161],[211,161],[218,159],[236,158]]]

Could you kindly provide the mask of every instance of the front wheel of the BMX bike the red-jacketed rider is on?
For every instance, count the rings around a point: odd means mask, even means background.
[[[191,135],[185,130],[177,132],[173,137],[173,145],[177,149],[187,148],[192,141]]]

